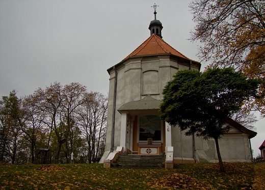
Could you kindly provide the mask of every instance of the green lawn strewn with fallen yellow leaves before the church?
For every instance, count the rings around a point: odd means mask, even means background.
[[[220,173],[217,164],[175,165],[172,170],[105,169],[99,164],[7,165],[0,166],[0,189],[264,189],[260,186],[264,162],[225,164],[225,168]]]

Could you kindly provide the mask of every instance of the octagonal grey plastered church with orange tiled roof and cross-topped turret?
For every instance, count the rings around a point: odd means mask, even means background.
[[[105,168],[120,155],[165,155],[165,167],[174,164],[218,162],[215,141],[184,135],[178,126],[160,120],[162,91],[173,75],[183,69],[200,70],[191,60],[162,39],[162,23],[149,24],[150,36],[121,62],[109,68],[109,105]],[[250,162],[251,131],[232,119],[231,130],[219,140],[223,161]]]

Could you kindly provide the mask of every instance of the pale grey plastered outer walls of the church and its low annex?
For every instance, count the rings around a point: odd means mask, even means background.
[[[118,108],[127,102],[140,100],[147,94],[151,94],[155,99],[162,99],[162,91],[167,82],[172,80],[177,71],[183,69],[189,69],[189,66],[170,60],[170,56],[130,59],[117,67],[114,149],[120,146],[121,139],[121,114],[117,111]],[[110,74],[106,151],[111,149],[114,83],[115,72],[112,70]],[[174,157],[193,159],[195,156],[201,162],[218,161],[214,140],[206,141],[203,138],[195,137],[196,151],[194,154],[193,137],[187,137],[184,131],[180,131],[178,127],[172,127],[171,130]],[[235,128],[232,128],[231,131],[239,132]],[[226,134],[219,141],[219,145],[223,161],[251,160],[249,140],[246,134]]]

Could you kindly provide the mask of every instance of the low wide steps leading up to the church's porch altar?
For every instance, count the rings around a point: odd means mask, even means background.
[[[121,168],[159,168],[158,164],[165,162],[166,155],[120,155],[117,163]]]

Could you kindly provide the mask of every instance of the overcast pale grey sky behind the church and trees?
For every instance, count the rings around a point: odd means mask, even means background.
[[[197,44],[187,40],[195,26],[189,2],[0,0],[0,96],[13,89],[19,97],[30,95],[54,82],[76,82],[107,95],[107,69],[150,36],[154,3],[163,39],[199,61]],[[202,63],[201,71],[205,66]],[[264,119],[256,126],[254,156],[265,139]]]

